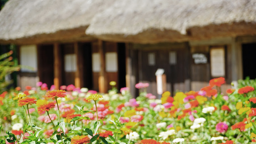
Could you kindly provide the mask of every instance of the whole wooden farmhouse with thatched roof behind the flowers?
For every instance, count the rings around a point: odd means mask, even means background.
[[[198,91],[256,78],[256,0],[9,0],[0,43],[19,47],[21,87]],[[163,69],[163,83],[156,82]],[[159,80],[160,81],[160,80]],[[158,93],[159,94],[159,93]]]

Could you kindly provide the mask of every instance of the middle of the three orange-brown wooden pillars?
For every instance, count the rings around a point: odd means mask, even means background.
[[[74,43],[74,51],[76,54],[76,72],[75,72],[75,86],[80,87],[83,86],[83,61],[82,61],[82,52],[80,52],[78,43]]]

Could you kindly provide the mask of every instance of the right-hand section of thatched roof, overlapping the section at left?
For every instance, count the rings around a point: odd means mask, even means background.
[[[119,0],[98,13],[86,34],[155,43],[256,34],[256,0]]]

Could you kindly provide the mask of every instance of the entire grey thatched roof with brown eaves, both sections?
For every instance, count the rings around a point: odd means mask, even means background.
[[[93,37],[157,43],[255,34],[256,0],[9,0],[0,12],[0,43]]]

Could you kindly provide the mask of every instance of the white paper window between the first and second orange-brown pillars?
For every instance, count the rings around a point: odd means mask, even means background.
[[[76,71],[76,54],[66,54],[64,56],[65,72]]]

